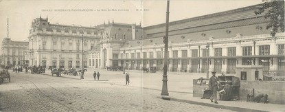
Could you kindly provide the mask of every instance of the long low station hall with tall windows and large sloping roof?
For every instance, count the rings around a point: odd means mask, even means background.
[[[284,33],[273,36],[266,30],[269,20],[254,14],[259,6],[170,22],[168,71],[236,74],[237,65],[262,65],[264,72],[284,72]],[[141,36],[124,41],[122,47],[112,37],[103,37],[101,53],[107,57],[102,60],[107,59],[106,66],[162,70],[165,27],[143,27]]]

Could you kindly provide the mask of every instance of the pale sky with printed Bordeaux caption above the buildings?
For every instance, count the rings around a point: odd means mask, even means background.
[[[62,25],[89,27],[114,20],[146,27],[166,23],[166,3],[166,0],[0,0],[0,43],[8,35],[8,19],[11,40],[25,41],[32,20],[40,15],[48,17],[49,23]],[[262,0],[170,0],[170,22],[259,3]]]

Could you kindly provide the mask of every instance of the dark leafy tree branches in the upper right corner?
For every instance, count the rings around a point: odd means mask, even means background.
[[[269,24],[266,25],[266,30],[272,27],[271,32],[284,32],[284,0],[262,0],[264,3],[258,10],[255,10],[255,14],[262,14],[265,12],[264,15],[265,19],[269,19]],[[267,12],[268,10],[268,12]]]

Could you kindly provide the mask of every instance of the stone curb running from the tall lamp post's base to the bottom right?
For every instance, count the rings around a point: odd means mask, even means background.
[[[161,98],[161,96],[157,96],[157,98]],[[197,105],[202,105],[202,106],[207,106],[207,107],[214,107],[217,109],[228,109],[231,111],[251,111],[251,112],[266,112],[262,110],[256,110],[256,109],[247,109],[247,108],[242,108],[242,107],[231,107],[231,106],[224,106],[224,105],[219,105],[219,104],[210,104],[210,103],[205,103],[205,102],[196,102],[192,100],[181,100],[177,98],[171,98],[170,100],[175,101],[175,102],[185,102],[189,104],[197,104]]]

